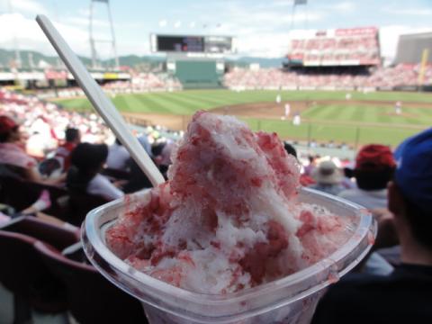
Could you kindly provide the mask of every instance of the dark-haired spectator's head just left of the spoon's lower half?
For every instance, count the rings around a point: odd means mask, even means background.
[[[72,166],[84,175],[97,174],[106,162],[108,147],[106,144],[80,143],[72,151]]]

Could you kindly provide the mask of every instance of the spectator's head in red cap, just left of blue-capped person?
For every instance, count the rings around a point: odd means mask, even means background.
[[[396,164],[389,147],[370,144],[361,148],[356,157],[354,175],[360,189],[371,191],[387,187]]]

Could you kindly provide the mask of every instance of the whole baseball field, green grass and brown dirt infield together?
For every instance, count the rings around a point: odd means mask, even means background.
[[[280,103],[276,103],[278,95]],[[401,112],[395,109],[398,101]],[[92,109],[85,98],[56,102],[81,112]],[[117,94],[112,102],[127,119],[141,124],[182,130],[193,112],[211,110],[236,115],[253,130],[275,131],[282,139],[349,145],[395,146],[432,125],[432,94],[427,93],[189,90]],[[286,103],[290,104],[288,117],[284,116]],[[293,125],[294,114],[300,114],[300,125]]]

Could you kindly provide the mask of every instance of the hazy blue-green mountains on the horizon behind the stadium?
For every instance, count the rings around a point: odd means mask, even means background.
[[[23,68],[31,67],[31,60],[33,67],[46,68],[46,67],[61,67],[62,63],[57,56],[47,56],[34,50],[20,50],[20,58]],[[79,57],[85,64],[90,66],[91,59]],[[11,63],[15,60],[15,52],[11,49],[0,49],[0,67],[11,67]],[[138,55],[125,55],[119,57],[119,64],[126,67],[134,67],[139,70],[148,71],[155,70],[161,67],[161,63],[165,62],[166,58],[163,56],[138,56]],[[256,58],[256,57],[241,57],[241,58],[228,58],[226,61],[229,65],[238,67],[248,67],[251,63],[257,63],[260,67],[281,67],[284,58]],[[102,61],[103,67],[112,67],[114,65],[113,58]]]

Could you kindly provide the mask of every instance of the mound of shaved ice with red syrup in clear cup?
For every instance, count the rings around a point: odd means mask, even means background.
[[[117,257],[168,284],[235,293],[311,266],[353,234],[349,217],[298,201],[299,165],[275,133],[197,112],[172,160],[166,183],[105,236]]]

